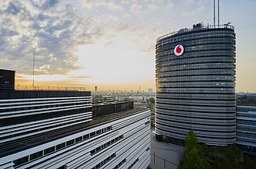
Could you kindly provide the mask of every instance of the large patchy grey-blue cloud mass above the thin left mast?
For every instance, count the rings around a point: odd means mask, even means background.
[[[37,74],[81,69],[74,51],[78,45],[93,44],[101,28],[79,16],[72,5],[59,3],[9,1],[0,8],[0,67],[30,74],[35,51]]]

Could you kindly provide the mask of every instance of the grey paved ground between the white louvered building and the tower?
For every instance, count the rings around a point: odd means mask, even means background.
[[[151,131],[151,169],[177,169],[183,149],[183,146],[157,142]]]

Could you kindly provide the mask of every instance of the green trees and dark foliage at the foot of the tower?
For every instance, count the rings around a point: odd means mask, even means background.
[[[256,157],[245,157],[242,162],[240,150],[233,144],[230,146],[206,146],[200,144],[193,130],[185,139],[184,157],[178,169],[256,169]]]

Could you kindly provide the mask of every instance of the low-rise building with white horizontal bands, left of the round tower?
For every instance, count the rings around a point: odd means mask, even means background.
[[[0,91],[0,133],[3,169],[150,165],[150,110],[92,118],[88,91]]]

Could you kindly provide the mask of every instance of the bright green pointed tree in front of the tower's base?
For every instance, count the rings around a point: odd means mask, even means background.
[[[178,169],[208,169],[212,168],[206,160],[202,147],[199,144],[197,136],[190,130],[185,139],[185,156],[179,162]]]

